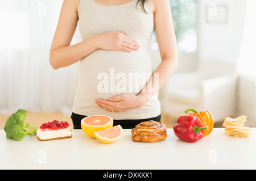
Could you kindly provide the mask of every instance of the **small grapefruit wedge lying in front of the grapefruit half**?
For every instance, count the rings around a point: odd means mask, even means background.
[[[112,128],[103,129],[101,131],[94,132],[94,136],[97,140],[104,142],[105,144],[110,144],[119,140],[123,135],[123,128],[121,125],[114,126]]]

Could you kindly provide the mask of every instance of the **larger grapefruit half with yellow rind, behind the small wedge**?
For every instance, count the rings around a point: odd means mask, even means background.
[[[104,115],[88,116],[81,120],[82,131],[94,138],[94,132],[113,127],[113,118]]]

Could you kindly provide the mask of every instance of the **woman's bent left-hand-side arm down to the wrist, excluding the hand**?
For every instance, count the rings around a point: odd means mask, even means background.
[[[74,64],[96,49],[93,39],[70,46],[77,27],[79,0],[64,0],[53,37],[49,62],[53,69]]]

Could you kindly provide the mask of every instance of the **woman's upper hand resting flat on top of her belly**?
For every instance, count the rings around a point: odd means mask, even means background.
[[[104,50],[121,50],[132,52],[138,50],[137,41],[131,39],[126,33],[121,31],[108,31],[97,35],[98,47]]]

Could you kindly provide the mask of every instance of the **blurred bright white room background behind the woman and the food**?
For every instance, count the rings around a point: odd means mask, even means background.
[[[49,49],[61,0],[0,0],[0,129],[19,108],[40,125],[71,121],[78,63],[53,70]],[[179,69],[159,91],[162,122],[172,128],[188,108],[209,110],[215,127],[246,115],[256,124],[256,1],[171,0]],[[81,41],[77,31],[71,44]],[[155,68],[160,54],[152,39]]]

